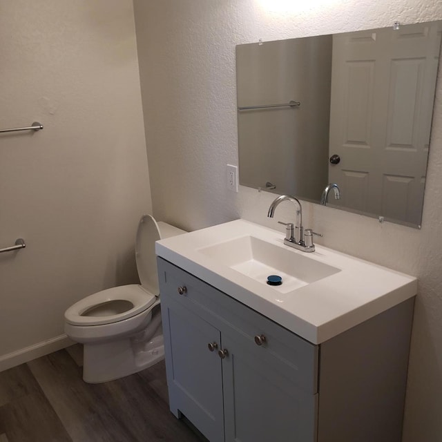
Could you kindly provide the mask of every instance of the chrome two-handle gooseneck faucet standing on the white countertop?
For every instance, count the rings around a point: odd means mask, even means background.
[[[280,195],[276,200],[274,200],[269,207],[269,213],[267,213],[267,216],[269,218],[273,218],[273,215],[275,214],[275,209],[280,204],[280,202],[283,201],[291,201],[294,204],[298,204],[298,210],[297,217],[296,217],[296,225],[292,222],[280,222],[280,224],[284,224],[285,229],[285,238],[284,238],[284,244],[294,247],[295,249],[302,250],[302,251],[315,251],[315,247],[313,244],[313,234],[314,232],[311,231],[311,229],[305,229],[302,227],[302,206],[299,202],[298,198],[295,198],[294,196],[289,195]]]

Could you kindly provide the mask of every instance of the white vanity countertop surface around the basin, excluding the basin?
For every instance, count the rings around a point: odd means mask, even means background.
[[[271,242],[340,271],[304,287],[280,293],[199,250],[243,236]],[[279,231],[236,220],[160,240],[155,249],[157,256],[314,344],[323,343],[416,295],[417,280],[412,276],[317,244],[313,253],[298,251],[286,246],[283,239],[284,234]]]

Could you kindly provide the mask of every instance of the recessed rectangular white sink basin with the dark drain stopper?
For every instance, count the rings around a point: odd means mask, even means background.
[[[292,249],[278,247],[254,236],[242,236],[198,251],[264,285],[267,285],[268,276],[280,276],[282,285],[268,286],[280,293],[288,293],[340,271],[302,256],[300,253],[303,252],[294,253]]]

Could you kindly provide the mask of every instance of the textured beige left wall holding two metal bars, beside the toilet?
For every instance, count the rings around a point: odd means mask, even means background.
[[[131,0],[0,0],[2,358],[63,334],[64,310],[136,281],[151,209]]]

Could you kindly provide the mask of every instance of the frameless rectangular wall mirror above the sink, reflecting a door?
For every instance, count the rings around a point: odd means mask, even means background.
[[[441,30],[237,46],[240,184],[420,227]]]

